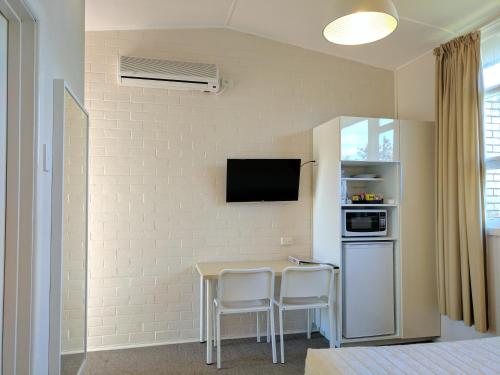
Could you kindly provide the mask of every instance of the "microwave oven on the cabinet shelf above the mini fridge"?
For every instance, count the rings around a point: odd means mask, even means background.
[[[387,210],[342,210],[342,236],[387,236]]]

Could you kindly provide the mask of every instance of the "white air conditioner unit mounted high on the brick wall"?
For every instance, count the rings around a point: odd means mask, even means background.
[[[119,82],[126,86],[218,92],[217,65],[120,57]]]

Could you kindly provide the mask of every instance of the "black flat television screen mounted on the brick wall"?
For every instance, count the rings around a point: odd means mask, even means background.
[[[227,159],[226,202],[296,201],[300,159]]]

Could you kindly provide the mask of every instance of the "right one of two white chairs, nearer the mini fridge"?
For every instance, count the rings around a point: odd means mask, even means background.
[[[307,337],[311,337],[311,310],[328,309],[330,348],[335,346],[333,324],[334,271],[331,266],[287,267],[281,276],[279,300],[273,300],[279,310],[281,363],[285,363],[283,340],[283,313],[291,310],[307,310]],[[321,312],[321,310],[320,310]]]

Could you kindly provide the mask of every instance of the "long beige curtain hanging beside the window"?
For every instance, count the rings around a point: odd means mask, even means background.
[[[436,55],[437,241],[441,314],[488,329],[480,34]]]

